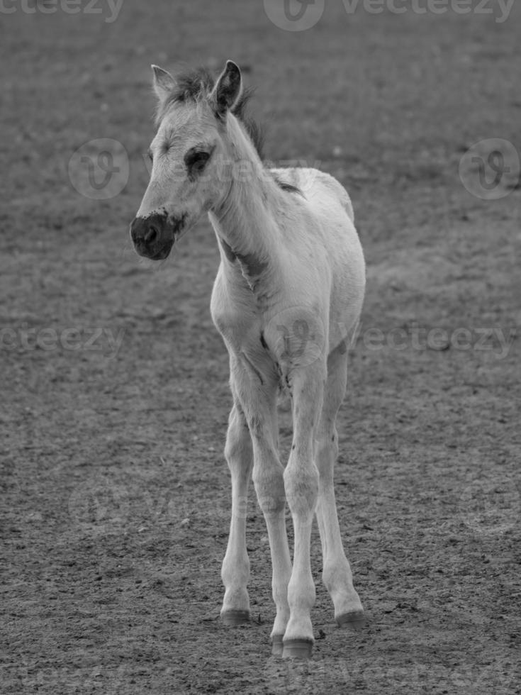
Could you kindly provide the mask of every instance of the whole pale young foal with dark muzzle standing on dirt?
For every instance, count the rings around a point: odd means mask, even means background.
[[[245,499],[253,478],[271,548],[275,654],[309,657],[316,515],[323,582],[339,625],[364,611],[344,555],[333,488],[335,420],[347,379],[347,342],[364,298],[365,266],[344,188],[315,169],[267,169],[247,95],[230,60],[214,83],[204,70],[172,77],[152,66],[158,98],[152,174],[130,235],[142,256],[164,259],[208,212],[220,250],[211,313],[230,354],[225,457],[232,518],[223,561],[221,618],[250,616]],[[291,396],[293,445],[278,452],[276,401]],[[293,518],[293,567],[284,508]]]

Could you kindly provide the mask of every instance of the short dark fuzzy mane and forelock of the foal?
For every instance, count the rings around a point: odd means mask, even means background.
[[[176,87],[171,91],[167,99],[159,106],[156,120],[161,121],[164,114],[171,104],[186,104],[194,103],[204,99],[213,89],[215,78],[206,67],[198,67],[195,70],[189,70],[176,75]],[[261,160],[264,158],[263,145],[264,135],[262,128],[256,123],[247,113],[247,104],[253,94],[251,88],[244,89],[239,101],[233,108],[233,115],[239,119],[244,126],[250,140],[257,150]]]

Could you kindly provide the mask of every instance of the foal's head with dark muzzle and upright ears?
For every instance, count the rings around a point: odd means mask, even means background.
[[[148,152],[150,183],[130,236],[140,255],[162,260],[181,233],[228,196],[225,167],[235,157],[227,122],[230,113],[242,118],[246,97],[231,60],[215,84],[205,70],[177,78],[155,65],[152,70],[158,128]]]

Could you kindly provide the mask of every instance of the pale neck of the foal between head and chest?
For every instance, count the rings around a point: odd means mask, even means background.
[[[261,274],[275,267],[279,257],[277,218],[282,191],[232,114],[228,114],[227,128],[232,181],[225,200],[209,213],[210,220],[225,265],[234,265],[238,259],[254,274]]]

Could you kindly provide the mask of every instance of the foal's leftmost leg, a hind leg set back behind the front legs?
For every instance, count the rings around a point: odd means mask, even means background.
[[[234,400],[225,446],[225,458],[232,476],[232,518],[221,570],[225,594],[220,616],[228,625],[238,625],[250,619],[250,599],[246,588],[250,578],[250,560],[246,549],[246,503],[253,450],[250,430],[235,394]]]

